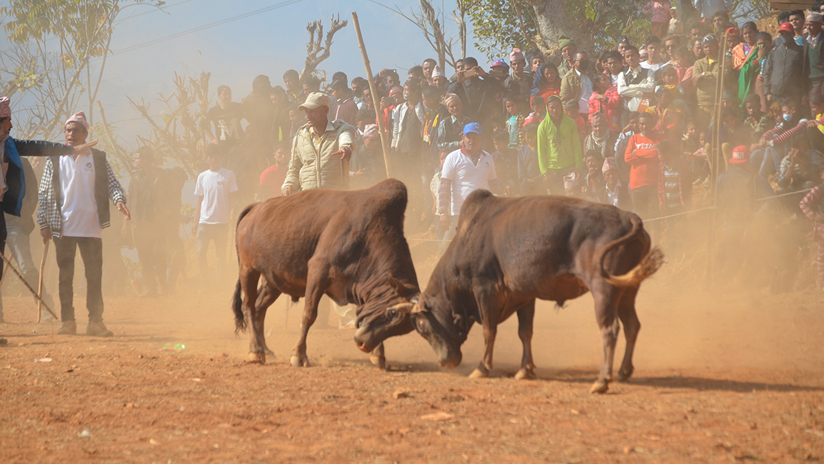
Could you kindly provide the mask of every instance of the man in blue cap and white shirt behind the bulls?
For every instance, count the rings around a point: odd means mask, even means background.
[[[438,188],[438,215],[441,230],[446,230],[445,240],[455,236],[461,206],[475,190],[497,187],[498,175],[492,155],[480,148],[483,132],[480,124],[471,122],[464,126],[463,146],[447,155],[441,170]]]

